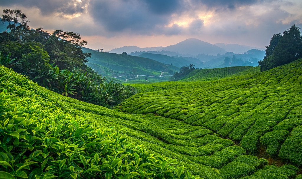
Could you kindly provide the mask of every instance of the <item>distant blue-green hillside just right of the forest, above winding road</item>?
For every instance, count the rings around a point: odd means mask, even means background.
[[[176,66],[160,63],[149,58],[97,52],[89,48],[83,48],[83,52],[92,54],[86,64],[103,76],[129,76],[134,73],[134,75],[159,76],[161,71],[179,70]]]

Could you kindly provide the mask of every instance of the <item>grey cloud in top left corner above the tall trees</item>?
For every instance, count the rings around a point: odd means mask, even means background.
[[[66,15],[72,15],[76,13],[82,13],[85,11],[85,5],[87,2],[78,2],[76,0],[11,0],[2,1],[2,6],[18,5],[26,8],[37,7],[40,9],[43,15],[49,15],[53,13],[61,13]]]

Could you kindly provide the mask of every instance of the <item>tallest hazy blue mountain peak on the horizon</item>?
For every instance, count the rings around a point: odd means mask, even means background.
[[[162,48],[161,50],[174,51],[180,54],[191,54],[193,56],[198,54],[217,55],[226,53],[222,48],[198,39],[187,39],[178,44]]]

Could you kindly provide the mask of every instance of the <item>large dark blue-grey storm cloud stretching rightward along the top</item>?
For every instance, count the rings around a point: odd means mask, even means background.
[[[91,0],[88,6],[92,18],[111,32],[130,31],[133,33],[178,34],[184,27],[167,27],[173,14],[178,16],[190,13],[201,7],[214,9],[235,9],[241,5],[251,5],[259,0]],[[201,20],[189,25],[189,29],[196,31],[203,26]]]

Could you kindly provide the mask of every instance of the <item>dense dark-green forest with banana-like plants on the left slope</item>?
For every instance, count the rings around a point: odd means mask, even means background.
[[[0,33],[0,63],[64,96],[101,106],[115,106],[135,94],[131,86],[108,82],[85,65],[90,53],[78,33],[30,29],[20,10],[3,10],[7,31]]]

